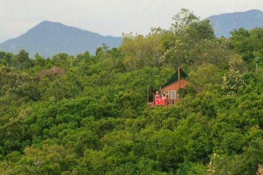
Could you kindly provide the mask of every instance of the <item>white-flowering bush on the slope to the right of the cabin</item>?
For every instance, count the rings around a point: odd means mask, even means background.
[[[223,83],[221,89],[224,91],[224,94],[236,95],[238,89],[245,87],[244,80],[242,78],[239,70],[230,70],[225,73],[223,76]]]

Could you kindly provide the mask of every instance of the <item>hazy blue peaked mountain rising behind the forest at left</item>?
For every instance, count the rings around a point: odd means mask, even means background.
[[[42,21],[25,34],[1,43],[0,51],[18,53],[24,49],[31,57],[36,53],[44,57],[60,52],[76,55],[89,51],[94,54],[103,43],[112,48],[121,42],[121,37],[103,36],[58,22]]]

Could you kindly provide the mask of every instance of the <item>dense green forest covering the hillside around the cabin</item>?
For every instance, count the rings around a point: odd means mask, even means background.
[[[169,30],[124,34],[95,55],[0,52],[3,175],[263,173],[263,28],[217,38],[182,9]],[[180,67],[176,105],[147,105],[147,85]]]

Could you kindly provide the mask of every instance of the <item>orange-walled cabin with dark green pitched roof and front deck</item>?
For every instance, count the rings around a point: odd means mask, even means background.
[[[188,75],[180,68],[176,70],[176,72],[172,75],[172,77],[166,82],[158,91],[160,96],[165,94],[165,98],[155,99],[153,97],[153,102],[149,102],[149,95],[148,95],[148,105],[174,105],[176,101],[179,101],[179,88],[185,88],[186,85],[189,83]],[[158,93],[157,92],[157,93]],[[149,94],[149,89],[148,89]],[[155,95],[154,95],[155,96]]]

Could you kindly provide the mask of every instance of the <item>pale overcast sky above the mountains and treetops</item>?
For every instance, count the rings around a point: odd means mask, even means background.
[[[0,43],[43,20],[101,35],[146,35],[151,27],[168,29],[182,8],[203,19],[251,9],[263,11],[263,0],[0,0]]]

